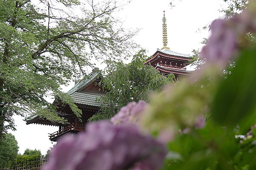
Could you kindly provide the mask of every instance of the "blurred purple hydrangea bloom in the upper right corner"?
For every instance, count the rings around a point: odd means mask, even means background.
[[[207,59],[207,64],[225,66],[232,59],[239,46],[248,45],[246,35],[256,32],[256,0],[250,0],[247,8],[241,14],[228,20],[214,20],[211,25],[212,35],[208,45],[202,49],[202,55]]]

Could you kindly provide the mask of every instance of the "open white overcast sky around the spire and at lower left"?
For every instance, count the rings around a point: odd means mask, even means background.
[[[176,0],[171,9],[171,0],[133,0],[118,13],[125,20],[126,28],[141,28],[134,41],[148,50],[147,55],[153,55],[157,48],[163,48],[162,17],[165,10],[167,19],[168,47],[175,52],[192,54],[193,49],[200,49],[200,42],[209,37],[204,26],[223,16],[219,13],[223,0]],[[201,30],[201,31],[198,31]],[[100,65],[96,65],[100,67]],[[68,91],[70,87],[64,88]],[[52,142],[48,133],[58,130],[58,127],[45,125],[26,125],[20,116],[15,116],[16,131],[9,131],[18,142],[19,153],[26,148],[41,150],[46,154]]]

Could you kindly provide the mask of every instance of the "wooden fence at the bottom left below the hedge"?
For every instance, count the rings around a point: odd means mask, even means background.
[[[44,166],[47,163],[47,156],[41,156],[41,159],[36,159],[32,161],[25,161],[23,165],[15,165],[14,168],[8,168],[8,170],[29,170],[29,169],[40,169],[40,167]]]

